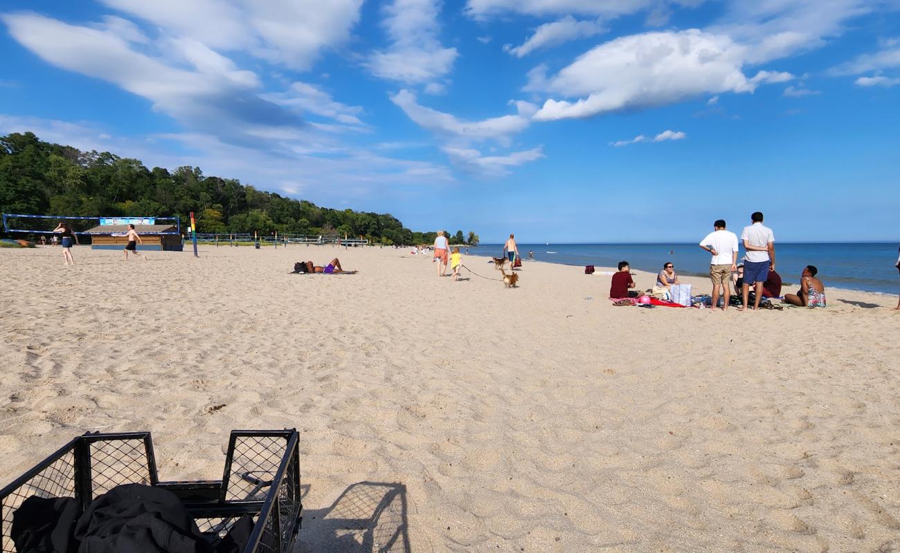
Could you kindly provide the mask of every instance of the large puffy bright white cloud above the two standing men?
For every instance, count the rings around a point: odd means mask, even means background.
[[[536,67],[527,90],[581,98],[549,99],[536,120],[590,117],[609,111],[675,103],[699,94],[752,93],[764,83],[785,82],[788,73],[742,71],[746,49],[725,35],[696,29],[648,32],[610,40],[590,49],[552,77]]]

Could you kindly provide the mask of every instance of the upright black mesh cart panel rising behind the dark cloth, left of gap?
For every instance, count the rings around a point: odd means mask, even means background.
[[[91,482],[94,497],[122,484],[150,485],[147,449],[143,440],[91,443]]]

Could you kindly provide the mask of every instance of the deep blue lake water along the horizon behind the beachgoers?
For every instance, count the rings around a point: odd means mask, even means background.
[[[500,256],[503,245],[483,244],[470,248],[471,255]],[[696,244],[519,244],[527,259],[528,250],[537,261],[566,265],[613,267],[627,261],[633,269],[660,272],[672,262],[675,271],[707,276],[710,255]],[[743,257],[743,248],[738,256]],[[840,244],[775,244],[775,262],[781,278],[798,282],[806,265],[815,265],[825,286],[894,294],[900,290],[897,278],[896,243],[863,242]],[[740,261],[738,262],[740,263]]]

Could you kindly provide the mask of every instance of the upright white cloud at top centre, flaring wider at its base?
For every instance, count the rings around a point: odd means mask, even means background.
[[[392,40],[365,62],[374,76],[417,85],[445,76],[458,56],[437,40],[438,0],[393,0],[385,6],[384,26]]]

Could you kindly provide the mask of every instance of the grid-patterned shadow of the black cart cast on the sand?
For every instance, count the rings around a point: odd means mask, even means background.
[[[302,495],[310,486],[302,486]],[[406,486],[357,482],[324,509],[304,509],[294,553],[411,553]]]

